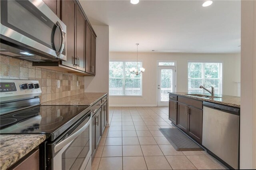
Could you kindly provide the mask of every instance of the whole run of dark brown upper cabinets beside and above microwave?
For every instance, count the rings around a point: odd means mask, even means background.
[[[44,0],[66,25],[66,61],[33,62],[33,66],[77,75],[95,75],[96,34],[78,0]]]

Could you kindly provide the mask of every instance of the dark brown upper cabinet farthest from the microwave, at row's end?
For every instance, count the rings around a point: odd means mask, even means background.
[[[96,73],[96,35],[86,22],[86,73]]]

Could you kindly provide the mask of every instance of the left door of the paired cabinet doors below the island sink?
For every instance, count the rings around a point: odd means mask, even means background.
[[[182,103],[178,103],[178,124],[177,126],[187,132],[188,128],[188,115],[186,115],[186,107],[187,105],[184,105]]]

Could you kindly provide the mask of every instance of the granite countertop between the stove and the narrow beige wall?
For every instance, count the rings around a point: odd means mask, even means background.
[[[78,95],[47,101],[41,103],[41,105],[93,105],[107,94],[108,93],[81,93]]]

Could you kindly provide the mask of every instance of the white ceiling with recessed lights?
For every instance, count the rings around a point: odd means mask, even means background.
[[[92,25],[108,25],[110,51],[238,53],[240,0],[80,0]]]

